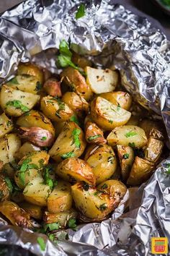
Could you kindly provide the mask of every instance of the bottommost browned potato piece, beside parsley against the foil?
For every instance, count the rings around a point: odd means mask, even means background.
[[[68,225],[68,221],[70,218],[76,218],[77,217],[77,212],[74,209],[71,210],[66,210],[61,213],[49,213],[45,211],[44,216],[43,216],[43,221],[46,224],[50,223],[59,223],[59,225],[62,228],[66,228]]]

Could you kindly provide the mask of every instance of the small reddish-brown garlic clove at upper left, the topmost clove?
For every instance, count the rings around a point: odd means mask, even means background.
[[[43,88],[48,95],[51,95],[53,97],[61,97],[61,82],[58,82],[55,78],[48,79],[44,85]]]

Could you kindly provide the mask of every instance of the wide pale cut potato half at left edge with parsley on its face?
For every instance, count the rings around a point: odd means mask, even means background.
[[[30,111],[39,99],[39,95],[15,90],[7,85],[3,85],[1,88],[1,108],[9,116],[21,116],[25,112]]]

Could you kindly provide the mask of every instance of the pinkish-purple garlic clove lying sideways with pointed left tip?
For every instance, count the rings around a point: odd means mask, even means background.
[[[29,140],[39,147],[50,147],[54,141],[53,135],[47,129],[40,127],[19,127],[18,132],[22,139]],[[46,139],[43,140],[43,137]]]

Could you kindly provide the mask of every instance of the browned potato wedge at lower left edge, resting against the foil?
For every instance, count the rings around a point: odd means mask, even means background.
[[[26,213],[22,208],[10,201],[0,202],[0,212],[11,221],[14,226],[21,226],[22,228],[32,228],[32,221],[30,221],[30,214]]]

